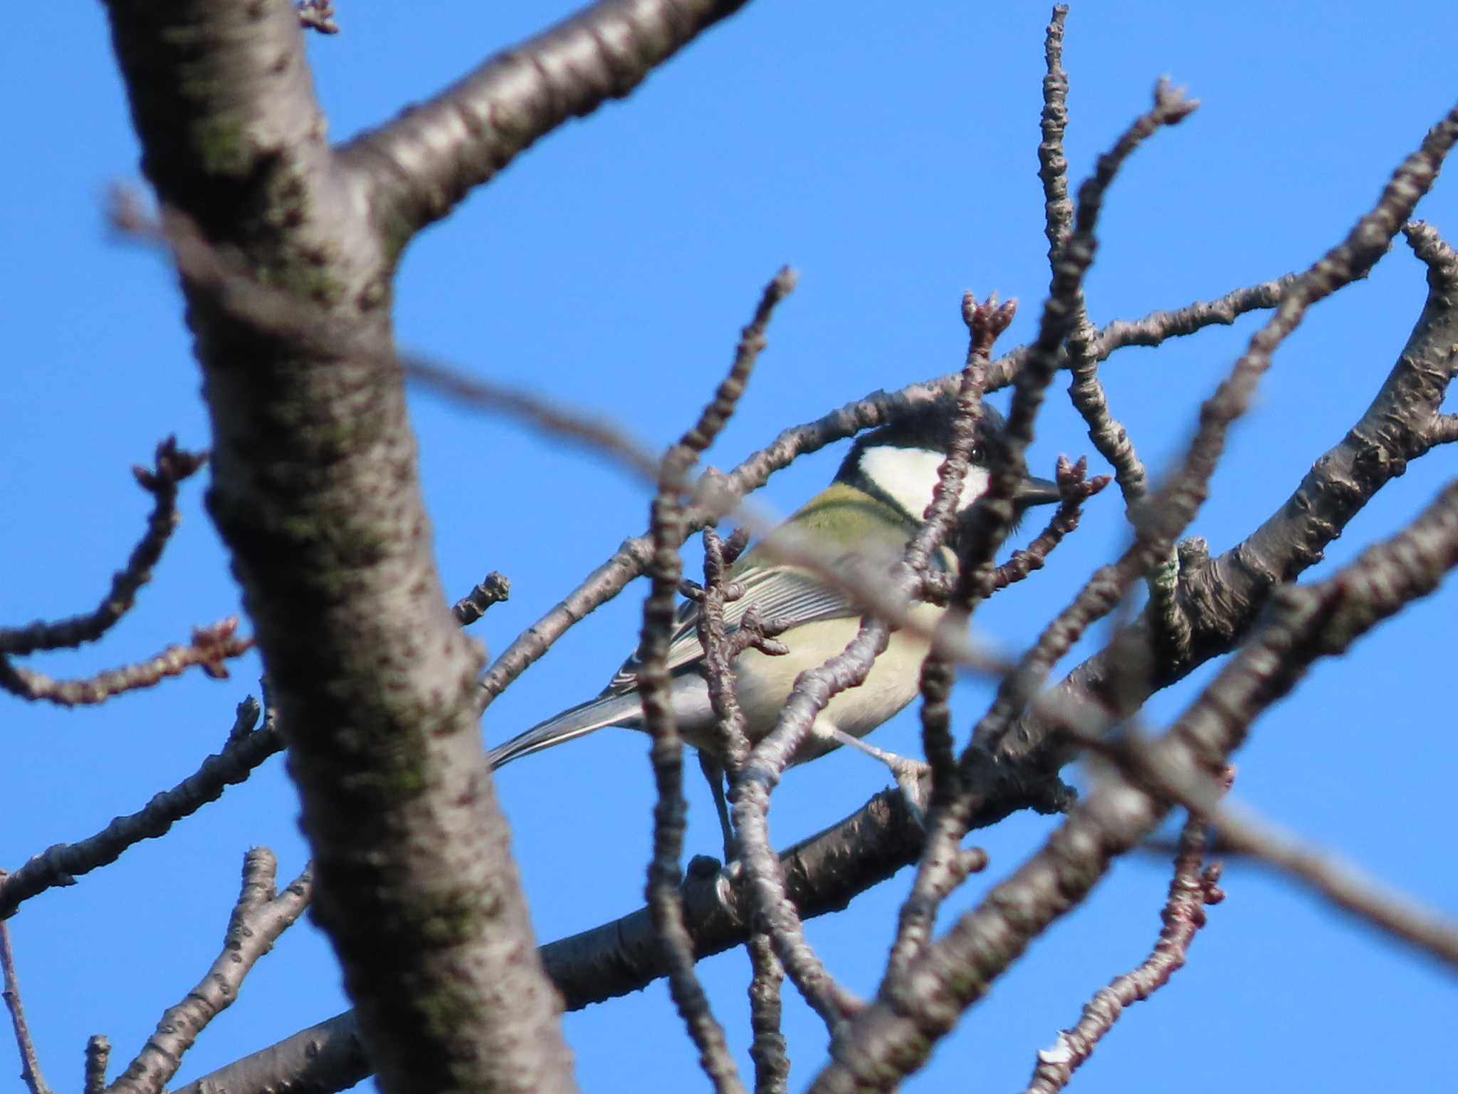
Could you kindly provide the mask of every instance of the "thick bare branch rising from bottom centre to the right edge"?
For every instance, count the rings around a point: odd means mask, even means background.
[[[1378,621],[1432,592],[1455,565],[1458,483],[1407,529],[1334,578],[1283,586],[1264,626],[1149,745],[1150,763],[1181,773],[1223,766],[1254,719],[1314,661],[1343,652]],[[888,1085],[908,1074],[961,1012],[987,993],[991,980],[1075,907],[1112,859],[1152,831],[1169,807],[1168,798],[1130,783],[1096,788],[1032,858],[929,944],[904,977],[888,982],[831,1047],[831,1063],[811,1090]]]

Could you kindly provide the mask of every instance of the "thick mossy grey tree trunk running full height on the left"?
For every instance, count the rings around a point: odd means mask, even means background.
[[[325,144],[289,3],[108,12],[165,216],[271,305],[179,261],[213,427],[207,503],[381,1085],[570,1090],[480,750],[481,652],[432,559],[386,306],[404,238],[381,236]]]

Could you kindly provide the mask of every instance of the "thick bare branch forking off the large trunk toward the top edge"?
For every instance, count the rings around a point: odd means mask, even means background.
[[[744,0],[601,0],[499,53],[364,133],[341,160],[373,188],[379,229],[408,239],[567,118],[621,99]]]

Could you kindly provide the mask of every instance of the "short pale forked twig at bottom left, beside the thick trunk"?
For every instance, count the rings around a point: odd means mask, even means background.
[[[227,920],[223,950],[182,1002],[169,1006],[137,1058],[108,1094],[160,1094],[197,1034],[238,998],[243,977],[309,904],[309,866],[283,893],[274,891],[277,862],[267,847],[243,856],[243,885]]]

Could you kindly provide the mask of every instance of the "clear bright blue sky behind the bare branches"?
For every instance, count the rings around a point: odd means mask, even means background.
[[[563,4],[341,4],[344,34],[309,42],[331,134],[347,137],[418,101],[494,50],[548,25]],[[1088,282],[1096,322],[1133,318],[1302,268],[1347,230],[1391,168],[1455,99],[1448,6],[1075,4],[1064,63],[1075,181],[1168,74],[1201,109],[1158,134],[1115,182]],[[709,397],[760,289],[790,263],[800,287],[780,308],[739,416],[710,459],[729,467],[781,426],[876,388],[952,371],[965,335],[959,299],[997,290],[1024,308],[1006,344],[1031,335],[1047,287],[1035,176],[1041,4],[790,4],[761,0],[713,29],[623,104],[564,125],[432,228],[398,282],[402,346],[621,422],[652,445]],[[0,172],[0,267],[9,344],[0,400],[0,621],[80,611],[105,591],[147,512],[128,467],[178,433],[207,445],[198,373],[178,293],[159,260],[104,226],[112,182],[140,181],[137,146],[99,6],[47,6],[0,45],[10,169]],[[64,57],[63,63],[58,58]],[[1458,188],[1439,179],[1419,216],[1458,239]],[[1424,270],[1406,245],[1362,284],[1314,309],[1277,353],[1194,532],[1223,550],[1277,508],[1366,407],[1423,303]],[[1251,319],[1104,369],[1115,414],[1158,473],[1196,408],[1254,330]],[[1091,449],[1061,395],[1034,448]],[[487,570],[512,600],[474,633],[491,652],[551,607],[646,522],[647,497],[590,452],[416,392],[421,476],[446,588]],[[781,512],[830,477],[840,449],[777,476]],[[1454,473],[1438,451],[1389,484],[1315,573],[1391,534]],[[1098,461],[1095,459],[1095,464]],[[184,524],[134,613],[99,648],[36,658],[85,674],[184,640],[238,610],[227,562],[184,489]],[[1123,544],[1111,493],[1035,581],[997,597],[981,633],[1010,651]],[[691,562],[690,566],[694,563]],[[490,710],[500,741],[595,693],[634,642],[637,586],[572,632]],[[1235,796],[1375,878],[1458,915],[1452,830],[1458,742],[1443,702],[1458,597],[1416,605],[1258,725],[1239,754]],[[1086,646],[1083,648],[1088,649]],[[1072,662],[1070,662],[1072,664]],[[1168,723],[1213,670],[1153,699]],[[230,681],[200,674],[60,712],[0,697],[4,769],[0,866],[15,868],[130,812],[216,751],[257,659]],[[984,688],[955,696],[958,725]],[[907,712],[876,734],[916,747]],[[649,847],[644,740],[620,731],[504,770],[513,829],[542,941],[640,904]],[[1070,777],[1082,777],[1070,772]],[[776,794],[777,843],[824,827],[885,783],[834,754]],[[716,853],[707,794],[691,783],[690,852]],[[10,920],[31,1028],[57,1087],[74,1085],[90,1033],[121,1062],[216,954],[243,850],[273,847],[289,877],[305,859],[278,759],[246,785],[140,845],[115,865],[29,901]],[[967,907],[1053,824],[1018,817],[980,833],[991,866]],[[908,1090],[1019,1088],[1034,1052],[1077,1018],[1088,995],[1137,963],[1158,931],[1166,866],[1120,864],[1091,901],[1040,939],[971,1011]],[[853,989],[870,992],[901,872],[851,909],[809,925]],[[1226,872],[1188,967],[1130,1009],[1077,1090],[1261,1087],[1433,1088],[1430,1046],[1458,1012],[1451,974],[1250,865]],[[741,953],[700,966],[741,1055]],[[179,1079],[343,1009],[322,936],[284,935],[188,1055]],[[662,983],[566,1018],[588,1090],[691,1087],[694,1053]],[[824,1031],[786,993],[792,1082],[824,1055]],[[1319,1046],[1312,1050],[1314,1046]],[[0,1068],[10,1059],[0,1047]],[[1441,1066],[1441,1065],[1439,1065]],[[10,1072],[13,1074],[13,1072]],[[1441,1082],[1441,1081],[1439,1081]]]

